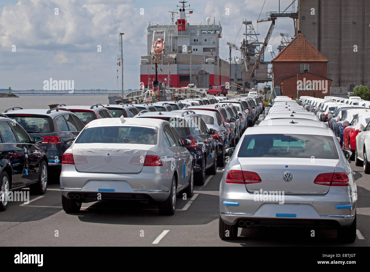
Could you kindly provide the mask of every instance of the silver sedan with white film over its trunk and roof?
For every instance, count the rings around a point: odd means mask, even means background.
[[[104,199],[156,201],[159,212],[175,213],[176,193],[193,195],[191,154],[164,120],[105,118],[88,123],[62,158],[63,209]]]

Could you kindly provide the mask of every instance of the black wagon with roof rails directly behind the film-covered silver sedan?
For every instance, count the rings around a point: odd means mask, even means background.
[[[194,111],[142,113],[135,118],[137,117],[166,120],[175,128],[181,140],[188,139],[192,142],[186,149],[194,158],[195,182],[197,185],[204,184],[206,169],[209,169],[209,174],[216,174],[218,141],[212,137],[215,131],[212,128],[208,130],[205,122]]]

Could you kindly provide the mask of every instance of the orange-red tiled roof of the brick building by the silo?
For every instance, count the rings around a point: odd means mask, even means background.
[[[329,61],[299,33],[272,61]]]

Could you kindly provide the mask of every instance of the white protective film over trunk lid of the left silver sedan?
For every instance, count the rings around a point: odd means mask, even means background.
[[[72,147],[77,171],[93,173],[139,173],[145,156],[155,145],[81,143]]]

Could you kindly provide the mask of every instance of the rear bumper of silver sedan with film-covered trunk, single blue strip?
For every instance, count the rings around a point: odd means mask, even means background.
[[[67,198],[71,194],[80,194],[86,202],[96,200],[99,193],[102,199],[149,197],[155,201],[165,201],[169,196],[173,173],[161,167],[145,168],[135,174],[114,174],[78,172],[74,165],[63,165],[60,191]]]

